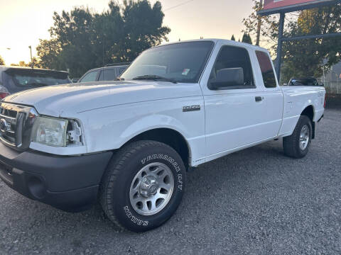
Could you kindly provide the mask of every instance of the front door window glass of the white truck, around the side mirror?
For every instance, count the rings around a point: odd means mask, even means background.
[[[252,74],[249,52],[246,49],[242,47],[223,46],[212,69],[210,80],[215,79],[217,72],[225,68],[242,68],[244,72],[244,86],[254,87],[254,76]]]

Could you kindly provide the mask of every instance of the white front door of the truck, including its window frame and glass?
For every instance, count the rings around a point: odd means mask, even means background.
[[[220,69],[242,68],[244,86],[229,84],[224,89],[212,90],[207,84],[201,84],[205,100],[207,160],[271,136],[264,129],[264,89],[256,86],[254,81],[255,72],[250,58],[251,53],[254,60],[254,51],[239,45],[217,46],[207,65],[212,69],[209,74],[205,72],[202,80],[209,84]]]

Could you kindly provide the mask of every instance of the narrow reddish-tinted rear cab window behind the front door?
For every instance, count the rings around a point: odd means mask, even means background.
[[[276,88],[276,78],[274,69],[272,68],[269,55],[265,52],[256,51],[256,56],[261,67],[261,75],[263,77],[264,86],[266,88]]]

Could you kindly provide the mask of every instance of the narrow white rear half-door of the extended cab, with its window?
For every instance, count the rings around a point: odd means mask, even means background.
[[[264,130],[266,130],[269,137],[275,137],[281,128],[283,118],[283,92],[278,86],[269,53],[256,50],[256,59],[261,72],[259,77],[262,78],[259,84],[264,85],[264,93],[262,94],[266,106],[262,116]]]

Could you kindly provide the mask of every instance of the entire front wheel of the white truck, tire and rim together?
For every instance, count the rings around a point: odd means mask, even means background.
[[[144,232],[166,222],[185,189],[185,166],[177,152],[154,141],[133,142],[110,162],[100,187],[100,203],[114,223]]]

